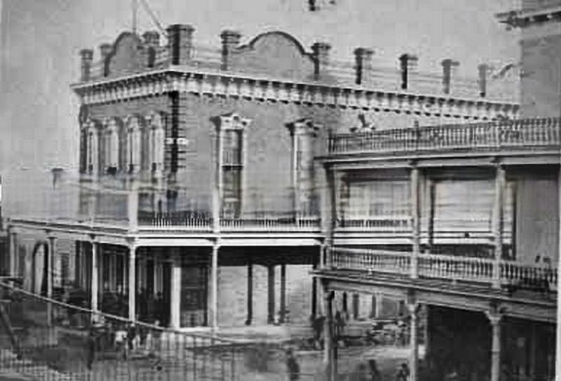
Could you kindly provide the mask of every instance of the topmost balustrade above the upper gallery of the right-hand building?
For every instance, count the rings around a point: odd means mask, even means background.
[[[416,128],[396,128],[328,139],[330,154],[428,152],[454,149],[532,149],[561,145],[560,119],[520,119]]]

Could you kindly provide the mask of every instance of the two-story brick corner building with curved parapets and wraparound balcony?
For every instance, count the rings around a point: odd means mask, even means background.
[[[518,114],[485,74],[479,83],[454,77],[453,60],[442,61],[443,76],[423,76],[412,55],[401,56],[400,69],[379,71],[367,48],[344,67],[330,62],[328,44],[307,50],[283,32],[244,45],[237,32],[220,38],[221,48],[200,49],[193,27],[173,25],[167,44],[156,32],[126,32],[100,46],[97,62],[81,51],[72,85],[81,102],[79,174],[49,173],[41,202],[29,197],[8,215],[12,272],[33,274],[26,288],[52,296],[78,287],[92,309],[110,312],[121,300],[118,313],[131,319],[161,298],[158,319],[175,328],[289,316],[307,323],[320,293],[310,272],[331,234],[314,160],[328,136]],[[380,133],[391,145],[401,132]],[[330,149],[339,141],[331,138]],[[400,179],[384,183],[384,196],[407,196],[405,173],[384,172]],[[45,186],[27,189],[36,196]],[[370,188],[350,189],[367,200]],[[358,217],[386,213],[390,201],[368,203],[374,211],[346,207],[335,238],[409,245],[405,201],[400,234],[384,219]]]

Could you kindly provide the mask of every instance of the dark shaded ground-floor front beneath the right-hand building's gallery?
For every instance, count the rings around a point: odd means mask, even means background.
[[[493,335],[499,342],[493,347]],[[500,380],[549,381],[555,376],[555,324],[482,312],[431,306],[427,363],[435,380],[456,373],[460,380],[488,380],[492,356],[500,359]]]

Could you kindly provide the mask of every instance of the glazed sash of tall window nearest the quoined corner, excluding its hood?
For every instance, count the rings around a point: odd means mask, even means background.
[[[224,214],[237,218],[241,212],[243,131],[222,132],[222,199]]]

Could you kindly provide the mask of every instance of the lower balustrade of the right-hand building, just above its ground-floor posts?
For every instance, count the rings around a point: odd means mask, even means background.
[[[382,272],[409,277],[412,253],[388,250],[330,248],[327,251],[330,269],[359,272]],[[452,255],[419,254],[417,274],[426,279],[445,279],[471,283],[493,283],[494,260]],[[499,283],[510,289],[557,290],[557,269],[546,265],[529,265],[501,260]]]

